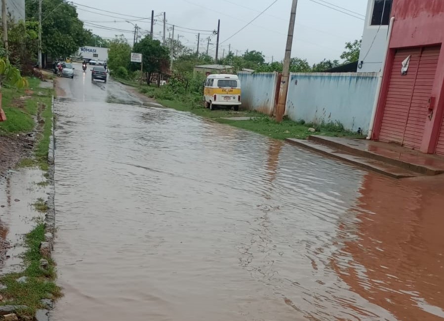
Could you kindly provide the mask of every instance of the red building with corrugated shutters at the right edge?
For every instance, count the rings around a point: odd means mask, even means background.
[[[394,0],[391,16],[371,138],[444,156],[444,0]]]

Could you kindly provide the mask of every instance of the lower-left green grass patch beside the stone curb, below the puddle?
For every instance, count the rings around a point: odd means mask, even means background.
[[[3,296],[0,305],[26,305],[27,309],[18,312],[20,316],[34,316],[36,310],[44,308],[41,299],[61,296],[61,288],[54,282],[56,276],[54,261],[40,254],[40,242],[45,240],[44,234],[44,224],[38,222],[25,237],[26,269],[22,273],[11,273],[0,277],[0,283],[6,286],[0,290]],[[40,259],[48,261],[46,269],[40,267]],[[27,277],[27,281],[17,282],[16,280],[21,277]]]

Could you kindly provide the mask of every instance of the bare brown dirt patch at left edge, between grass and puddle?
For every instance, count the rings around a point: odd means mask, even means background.
[[[22,159],[31,156],[33,138],[26,134],[0,136],[0,178]]]

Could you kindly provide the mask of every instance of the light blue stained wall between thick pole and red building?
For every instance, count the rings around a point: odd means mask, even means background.
[[[306,122],[340,121],[346,129],[368,131],[378,73],[296,73],[290,75],[286,115]]]

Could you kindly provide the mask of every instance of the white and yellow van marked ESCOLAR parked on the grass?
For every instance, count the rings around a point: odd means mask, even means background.
[[[241,82],[236,75],[209,75],[203,89],[205,108],[231,107],[239,110],[241,103]]]

